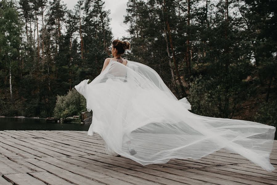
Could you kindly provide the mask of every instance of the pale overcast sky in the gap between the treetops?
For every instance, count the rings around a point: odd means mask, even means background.
[[[67,7],[73,10],[75,4],[78,0],[63,0]],[[126,4],[128,0],[104,0],[105,9],[110,11],[111,23],[110,27],[112,28],[113,39],[121,39],[122,36],[128,35],[127,25],[123,23],[124,17],[126,14]]]

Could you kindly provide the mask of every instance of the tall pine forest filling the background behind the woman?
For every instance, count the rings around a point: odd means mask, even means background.
[[[61,0],[0,2],[1,116],[86,109],[74,86],[112,57],[104,7],[103,0],[79,0],[73,10]],[[193,113],[276,126],[276,7],[275,0],[128,0],[128,35],[119,39],[131,49],[122,57],[153,68]]]

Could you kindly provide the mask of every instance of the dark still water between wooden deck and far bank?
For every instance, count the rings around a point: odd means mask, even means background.
[[[0,117],[0,130],[79,130],[88,131],[90,124],[55,123],[45,118]]]

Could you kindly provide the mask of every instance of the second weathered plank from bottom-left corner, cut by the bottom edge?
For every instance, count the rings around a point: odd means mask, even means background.
[[[26,173],[6,174],[3,175],[5,179],[16,185],[45,185],[42,181],[32,177]]]

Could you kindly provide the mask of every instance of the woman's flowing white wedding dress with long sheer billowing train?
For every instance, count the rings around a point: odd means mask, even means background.
[[[170,158],[200,159],[224,148],[264,170],[275,169],[269,162],[274,126],[191,113],[187,99],[178,100],[147,65],[128,61],[125,66],[110,60],[99,76],[88,81],[75,89],[93,112],[88,135],[99,133],[107,154],[147,165]]]

